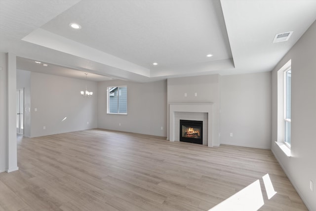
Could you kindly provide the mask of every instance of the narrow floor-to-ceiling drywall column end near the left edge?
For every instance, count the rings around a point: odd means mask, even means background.
[[[6,54],[7,59],[7,172],[18,170],[16,143],[16,55]]]

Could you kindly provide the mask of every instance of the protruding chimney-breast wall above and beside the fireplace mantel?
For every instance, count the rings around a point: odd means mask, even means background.
[[[167,103],[214,103],[213,145],[219,146],[219,75],[168,79]],[[195,93],[197,92],[197,96]],[[187,93],[187,96],[184,96]],[[168,109],[169,111],[169,109]],[[169,118],[169,113],[168,113]],[[169,124],[169,123],[168,123]],[[167,138],[169,139],[169,132]]]

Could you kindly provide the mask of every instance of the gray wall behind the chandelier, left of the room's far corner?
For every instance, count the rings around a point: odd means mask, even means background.
[[[86,84],[92,97],[80,96]],[[31,72],[31,137],[96,128],[97,96],[96,82]]]

